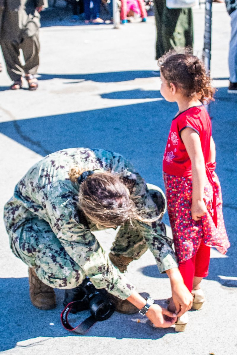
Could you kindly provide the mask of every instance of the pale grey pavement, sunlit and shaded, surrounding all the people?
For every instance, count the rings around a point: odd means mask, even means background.
[[[63,3],[58,2],[58,6]],[[63,5],[64,6],[64,5]],[[204,9],[194,9],[194,52],[203,47]],[[155,20],[112,25],[71,24],[70,11],[49,8],[42,13],[39,88],[9,91],[5,67],[0,74],[1,213],[17,181],[42,156],[69,147],[97,147],[131,159],[147,182],[163,187],[162,155],[176,105],[165,102],[160,79],[151,75]],[[114,315],[98,322],[85,336],[61,326],[63,291],[57,307],[34,308],[28,295],[27,267],[11,253],[0,220],[0,350],[6,355],[36,354],[237,354],[237,95],[227,94],[230,18],[225,5],[213,5],[211,75],[218,88],[211,104],[217,174],[223,193],[223,213],[231,248],[226,256],[212,250],[210,273],[203,281],[203,310],[190,311],[184,333],[153,329],[140,315]],[[0,55],[0,59],[1,55]],[[165,223],[168,217],[165,215]],[[110,231],[99,241],[109,249]],[[146,252],[128,268],[139,292],[160,304],[170,296],[169,280],[158,273]],[[71,316],[80,322],[88,312]],[[140,322],[139,322],[139,321]]]

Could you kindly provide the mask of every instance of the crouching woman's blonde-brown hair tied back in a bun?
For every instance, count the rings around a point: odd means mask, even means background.
[[[72,167],[70,180],[76,182],[84,171],[80,166]],[[106,227],[119,226],[139,218],[128,187],[119,174],[109,171],[94,172],[81,182],[79,208],[93,223]]]

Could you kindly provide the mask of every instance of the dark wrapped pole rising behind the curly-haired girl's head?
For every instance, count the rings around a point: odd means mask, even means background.
[[[211,69],[211,12],[212,0],[206,0],[205,4],[205,31],[204,31],[204,47],[203,47],[203,61],[206,72],[210,75]],[[210,115],[210,104],[206,105]]]

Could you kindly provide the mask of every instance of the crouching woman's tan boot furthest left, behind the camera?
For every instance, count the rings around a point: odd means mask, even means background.
[[[29,297],[32,304],[40,310],[51,310],[56,307],[53,288],[38,278],[33,267],[29,268]]]

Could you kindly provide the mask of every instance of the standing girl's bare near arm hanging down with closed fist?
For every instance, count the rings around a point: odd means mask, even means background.
[[[191,213],[192,218],[197,221],[207,212],[206,205],[203,200],[206,179],[203,151],[201,149],[199,135],[192,128],[185,128],[181,132],[181,138],[192,163],[193,193]]]

